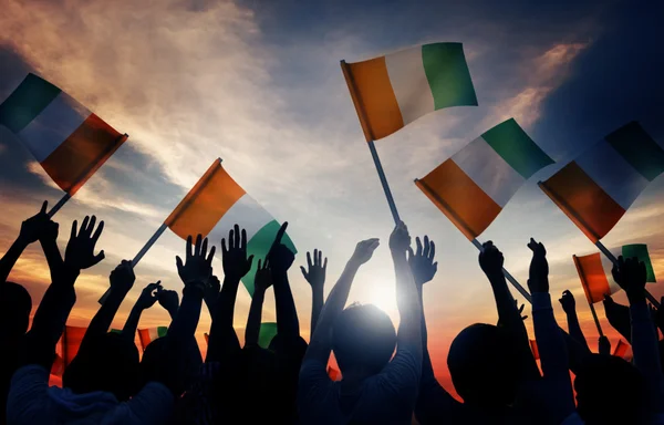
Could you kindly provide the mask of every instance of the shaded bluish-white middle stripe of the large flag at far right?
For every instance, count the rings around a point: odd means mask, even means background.
[[[611,145],[601,141],[581,154],[577,164],[625,210],[647,186],[647,180]]]

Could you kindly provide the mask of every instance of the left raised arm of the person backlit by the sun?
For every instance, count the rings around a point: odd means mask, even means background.
[[[378,245],[378,239],[374,238],[363,240],[355,247],[355,252],[353,252],[353,256],[346,263],[323,305],[315,331],[311,335],[309,348],[304,354],[304,362],[315,360],[323,364],[328,364],[330,351],[332,350],[330,334],[332,324],[345,307],[351,286],[353,284],[353,279],[355,278],[360,266],[371,259]]]

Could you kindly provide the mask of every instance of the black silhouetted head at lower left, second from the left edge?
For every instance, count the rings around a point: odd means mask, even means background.
[[[126,401],[136,393],[138,350],[134,341],[118,333],[106,333],[91,341],[90,350],[79,351],[64,371],[62,383],[76,394],[93,391],[113,393]]]

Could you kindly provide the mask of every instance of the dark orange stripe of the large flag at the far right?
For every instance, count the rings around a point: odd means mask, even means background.
[[[539,186],[593,243],[625,214],[573,160]]]

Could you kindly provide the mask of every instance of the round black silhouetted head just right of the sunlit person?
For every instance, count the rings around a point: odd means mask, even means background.
[[[454,339],[447,355],[452,382],[464,402],[484,407],[513,403],[520,381],[517,348],[492,324],[476,323]]]

